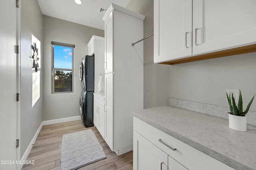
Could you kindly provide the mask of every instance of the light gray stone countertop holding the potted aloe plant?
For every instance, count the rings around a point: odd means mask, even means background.
[[[162,106],[132,115],[236,170],[256,170],[256,126],[228,127],[228,119]]]

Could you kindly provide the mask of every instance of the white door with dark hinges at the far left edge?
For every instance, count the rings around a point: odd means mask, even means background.
[[[19,60],[15,51],[17,38],[16,0],[0,1],[0,160],[14,161],[14,164],[0,164],[1,170],[15,170],[16,160],[20,159],[16,139],[19,130]],[[18,125],[17,125],[18,124]],[[7,162],[4,162],[7,163]]]

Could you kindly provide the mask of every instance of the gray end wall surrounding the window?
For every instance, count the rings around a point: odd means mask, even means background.
[[[50,16],[44,20],[44,99],[43,119],[52,120],[79,116],[79,99],[81,84],[79,66],[82,57],[88,54],[87,43],[93,35],[104,37],[104,31],[96,28],[75,24]],[[74,58],[74,93],[52,94],[52,48],[51,41],[75,45]]]

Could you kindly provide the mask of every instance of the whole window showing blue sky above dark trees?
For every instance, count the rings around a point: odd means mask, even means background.
[[[75,45],[52,42],[52,93],[73,92]]]

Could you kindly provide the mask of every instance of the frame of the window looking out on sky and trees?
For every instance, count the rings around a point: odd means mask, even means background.
[[[62,93],[74,93],[74,57],[75,57],[75,45],[68,43],[60,43],[60,42],[51,42],[52,45],[52,94],[62,94]],[[62,46],[62,47],[71,47],[72,48],[72,69],[65,68],[56,68],[54,67],[54,45]],[[63,70],[63,71],[72,71],[72,91],[61,91],[55,92],[55,70]]]

